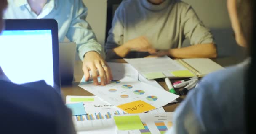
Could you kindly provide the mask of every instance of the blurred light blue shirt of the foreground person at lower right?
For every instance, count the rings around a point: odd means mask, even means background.
[[[166,134],[245,134],[246,62],[204,77],[176,109]]]

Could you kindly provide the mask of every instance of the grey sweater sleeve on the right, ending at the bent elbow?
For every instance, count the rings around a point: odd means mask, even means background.
[[[204,26],[190,5],[182,10],[181,16],[183,33],[191,45],[214,43],[210,30]]]

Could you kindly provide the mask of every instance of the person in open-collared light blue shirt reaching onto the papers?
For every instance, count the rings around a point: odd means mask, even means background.
[[[5,19],[54,18],[58,22],[59,41],[67,37],[77,43],[85,80],[89,79],[91,71],[94,84],[98,85],[97,70],[101,85],[112,80],[110,68],[104,61],[103,48],[85,21],[87,8],[82,0],[8,0],[8,3]]]

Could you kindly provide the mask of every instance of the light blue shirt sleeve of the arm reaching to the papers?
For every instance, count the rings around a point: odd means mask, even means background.
[[[84,59],[84,55],[89,51],[96,51],[102,57],[105,57],[105,53],[102,52],[102,46],[97,42],[91,26],[85,21],[87,8],[81,0],[74,0],[73,3],[73,18],[67,32],[67,38],[77,43],[77,50],[81,60]]]

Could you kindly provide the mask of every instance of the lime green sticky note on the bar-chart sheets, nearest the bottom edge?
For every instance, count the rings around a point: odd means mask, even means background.
[[[114,116],[118,130],[145,129],[139,116]]]

